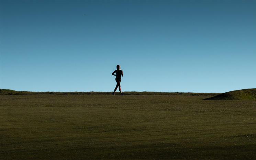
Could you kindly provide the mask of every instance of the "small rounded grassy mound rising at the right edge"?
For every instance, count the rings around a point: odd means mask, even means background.
[[[230,91],[203,100],[256,99],[256,88]]]

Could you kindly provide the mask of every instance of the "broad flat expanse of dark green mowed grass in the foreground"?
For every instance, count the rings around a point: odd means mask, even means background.
[[[255,159],[255,100],[1,95],[1,159]]]

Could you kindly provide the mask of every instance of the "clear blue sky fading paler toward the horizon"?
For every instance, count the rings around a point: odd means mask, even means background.
[[[0,1],[0,88],[256,88],[256,1]]]

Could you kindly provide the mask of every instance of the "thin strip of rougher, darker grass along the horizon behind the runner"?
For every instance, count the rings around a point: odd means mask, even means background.
[[[58,94],[58,95],[111,95],[112,92],[28,92],[0,89],[0,95],[31,95],[31,94]],[[220,93],[192,93],[192,92],[124,92],[125,95],[191,95],[191,96],[215,96]],[[116,92],[116,95],[120,95]]]

